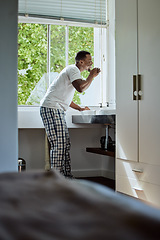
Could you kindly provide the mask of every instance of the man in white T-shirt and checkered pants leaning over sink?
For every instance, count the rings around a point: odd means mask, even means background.
[[[82,93],[100,73],[100,68],[92,69],[92,57],[89,52],[76,54],[75,64],[65,67],[50,85],[40,103],[40,115],[50,142],[50,167],[60,171],[65,177],[72,178],[70,160],[70,139],[65,120],[68,107],[79,111],[89,110],[80,107],[72,99],[75,90]],[[88,71],[86,80],[81,72]]]

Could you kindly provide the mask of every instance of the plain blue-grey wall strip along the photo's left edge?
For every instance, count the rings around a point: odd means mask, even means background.
[[[0,1],[0,172],[17,171],[18,0]]]

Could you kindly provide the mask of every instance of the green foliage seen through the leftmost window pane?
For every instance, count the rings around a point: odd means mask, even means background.
[[[18,105],[25,105],[31,91],[47,72],[47,25],[18,25]]]

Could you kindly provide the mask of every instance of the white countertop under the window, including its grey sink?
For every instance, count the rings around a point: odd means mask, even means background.
[[[108,116],[108,117],[107,117]],[[101,128],[103,124],[115,122],[114,109],[93,109],[91,111],[79,112],[69,110],[66,112],[66,122],[68,128]],[[84,123],[82,125],[82,123]],[[89,124],[86,124],[89,123]],[[94,125],[96,124],[96,126]],[[97,125],[98,123],[98,125]],[[44,129],[39,114],[39,107],[19,107],[18,108],[18,128],[19,129]]]

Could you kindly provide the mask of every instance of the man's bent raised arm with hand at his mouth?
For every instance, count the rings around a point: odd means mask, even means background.
[[[86,80],[77,79],[73,81],[72,84],[78,92],[82,93],[90,86],[93,78],[95,78],[99,73],[100,73],[99,68],[93,68],[90,71],[90,74]]]

